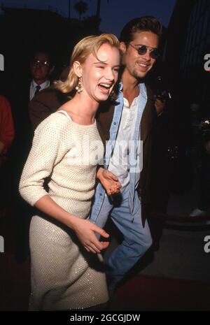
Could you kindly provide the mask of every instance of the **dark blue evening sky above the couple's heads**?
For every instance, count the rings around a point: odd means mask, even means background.
[[[85,1],[85,0],[83,0]],[[78,17],[73,5],[76,0],[71,0],[71,17]],[[94,15],[97,0],[86,0],[88,11],[84,17]],[[50,6],[58,13],[67,17],[69,15],[69,0],[0,0],[0,3],[11,6],[27,6],[29,8],[45,8]],[[102,0],[100,29],[120,36],[123,26],[135,17],[153,15],[168,26],[176,0]]]

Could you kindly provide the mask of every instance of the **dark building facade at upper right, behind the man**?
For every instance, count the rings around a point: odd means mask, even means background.
[[[210,0],[177,0],[169,22],[165,62],[177,93],[186,103],[199,102],[207,110],[210,73]],[[210,64],[209,64],[210,65]]]

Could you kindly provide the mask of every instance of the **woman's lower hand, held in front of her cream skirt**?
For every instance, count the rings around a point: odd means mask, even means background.
[[[109,242],[99,241],[95,233],[99,233],[104,238],[109,238],[109,234],[89,220],[76,217],[71,228],[87,252],[100,253],[109,246]]]

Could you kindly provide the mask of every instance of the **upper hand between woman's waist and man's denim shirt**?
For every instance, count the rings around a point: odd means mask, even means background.
[[[107,195],[118,194],[120,192],[121,184],[116,175],[113,175],[111,171],[100,167],[97,171],[97,178],[102,183]]]

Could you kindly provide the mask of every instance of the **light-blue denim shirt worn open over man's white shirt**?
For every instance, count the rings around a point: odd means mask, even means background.
[[[118,94],[118,99],[116,101],[116,107],[114,110],[113,120],[111,123],[110,128],[110,139],[106,142],[106,154],[104,157],[104,168],[109,167],[109,160],[111,158],[111,154],[114,149],[115,141],[118,134],[118,128],[120,125],[120,118],[123,111],[123,84],[120,82],[120,92]],[[137,161],[137,155],[140,154],[138,150],[138,140],[140,135],[140,122],[141,122],[141,116],[144,111],[144,108],[146,106],[147,102],[147,94],[146,94],[146,87],[144,83],[139,84],[139,92],[140,92],[140,99],[138,103],[138,110],[137,110],[137,122],[134,129],[134,160]],[[129,159],[130,161],[130,159]],[[130,184],[127,185],[130,187],[130,195],[129,195],[129,208],[132,215],[133,207],[134,207],[134,191],[137,189],[137,185],[139,183],[140,178],[140,171],[134,171],[135,166],[132,165],[132,172],[130,172]],[[91,218],[90,221],[95,223],[97,220],[97,217],[99,215],[99,212],[102,208],[102,204],[104,201],[106,191],[104,187],[102,187],[101,183],[97,185],[95,194],[94,194],[94,205],[92,206],[92,212],[91,212]]]

